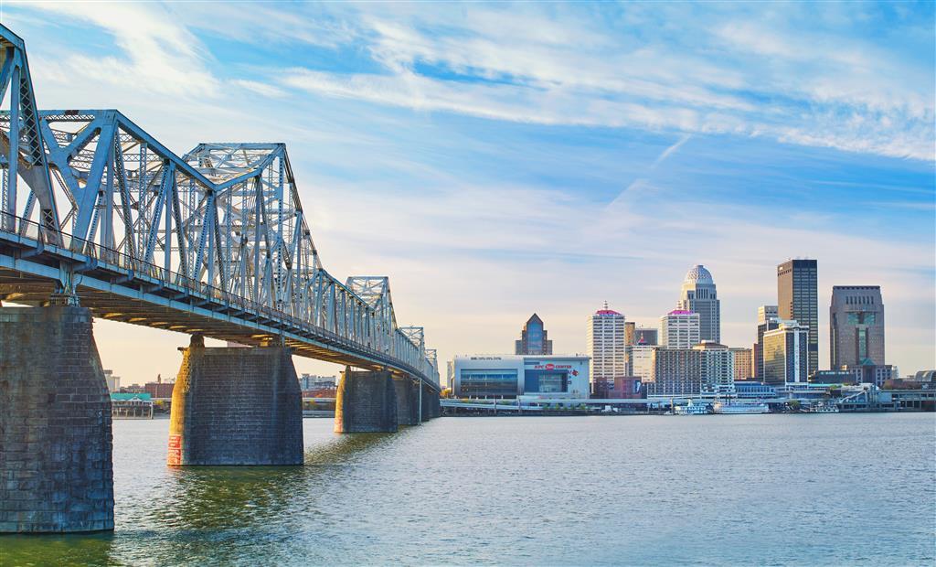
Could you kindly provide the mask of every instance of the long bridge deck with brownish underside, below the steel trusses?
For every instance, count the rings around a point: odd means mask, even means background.
[[[140,274],[121,265],[121,260],[119,256],[112,262],[91,259],[66,247],[0,231],[0,299],[46,305],[60,277],[59,262],[79,261],[84,263],[75,290],[80,305],[97,318],[251,346],[283,337],[299,356],[373,370],[388,366],[398,374],[418,376],[416,368],[327,329],[201,284],[188,287]],[[437,384],[427,383],[438,389]]]

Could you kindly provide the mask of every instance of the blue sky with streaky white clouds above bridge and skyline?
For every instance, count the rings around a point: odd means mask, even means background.
[[[286,142],[332,274],[391,276],[444,358],[536,311],[585,349],[607,300],[655,325],[695,263],[750,346],[775,264],[879,284],[887,362],[936,366],[934,4],[4,7],[39,105],[119,108],[183,153]],[[184,337],[99,322],[106,366]],[[139,354],[139,344],[149,348]],[[132,354],[131,354],[132,353]],[[298,361],[302,370],[330,367]]]

